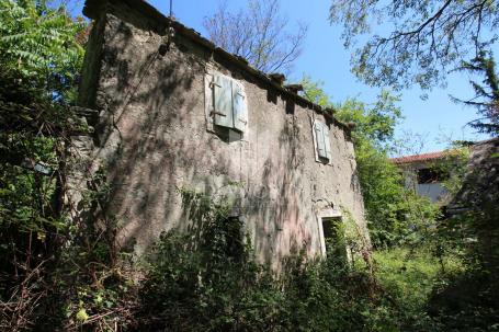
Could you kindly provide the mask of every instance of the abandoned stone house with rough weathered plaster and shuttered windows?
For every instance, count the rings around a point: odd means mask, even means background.
[[[93,28],[79,104],[99,116],[93,137],[73,138],[72,199],[82,174],[104,170],[122,244],[143,253],[185,229],[178,187],[233,196],[258,259],[273,264],[324,254],[347,214],[368,239],[350,129],[329,110],[145,1],[88,0],[83,12]]]

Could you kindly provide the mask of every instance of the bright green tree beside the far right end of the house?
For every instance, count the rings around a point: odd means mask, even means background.
[[[420,237],[420,230],[434,220],[436,210],[429,202],[405,188],[398,168],[388,160],[395,125],[401,118],[396,105],[398,96],[383,90],[373,104],[356,99],[334,104],[324,92],[321,82],[305,77],[302,84],[305,98],[334,108],[338,119],[355,124],[352,138],[356,172],[374,247],[394,245]]]

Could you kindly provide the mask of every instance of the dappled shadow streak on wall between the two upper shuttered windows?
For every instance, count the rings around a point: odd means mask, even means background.
[[[283,114],[284,115],[284,114]],[[293,115],[279,137],[279,152],[263,163],[260,182],[251,188],[247,215],[256,222],[249,225],[259,259],[281,264],[290,253],[310,252],[310,233],[303,210],[304,156],[299,154],[298,126]]]

